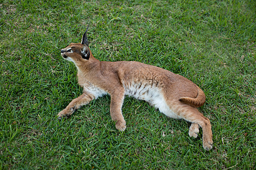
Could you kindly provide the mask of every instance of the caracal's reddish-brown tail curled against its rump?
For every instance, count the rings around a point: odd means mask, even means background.
[[[191,97],[180,97],[179,101],[182,101],[185,104],[191,105],[192,107],[201,107],[205,103],[205,94],[201,88],[196,86],[197,96],[196,98]]]

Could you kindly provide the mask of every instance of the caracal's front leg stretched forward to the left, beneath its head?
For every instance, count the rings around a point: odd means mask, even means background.
[[[81,96],[73,99],[71,103],[69,103],[68,106],[58,114],[58,119],[61,120],[64,116],[70,116],[82,105],[88,104],[93,99],[94,96],[92,94],[83,93]]]

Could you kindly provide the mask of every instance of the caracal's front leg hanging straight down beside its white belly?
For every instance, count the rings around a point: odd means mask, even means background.
[[[125,98],[125,90],[116,89],[111,95],[110,116],[115,121],[115,128],[120,131],[126,129],[126,122],[122,115],[123,99]]]

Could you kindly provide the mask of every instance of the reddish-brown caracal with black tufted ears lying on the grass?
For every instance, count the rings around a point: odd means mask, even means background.
[[[135,61],[107,62],[94,58],[89,49],[86,29],[81,44],[69,44],[61,49],[61,56],[75,63],[81,96],[73,99],[58,114],[61,119],[70,116],[82,105],[103,95],[111,96],[110,116],[118,130],[126,129],[122,115],[123,99],[126,95],[145,100],[171,118],[183,118],[191,122],[189,136],[197,137],[199,126],[203,129],[203,147],[212,149],[212,128],[209,118],[197,107],[205,103],[204,92],[191,80],[160,67]]]

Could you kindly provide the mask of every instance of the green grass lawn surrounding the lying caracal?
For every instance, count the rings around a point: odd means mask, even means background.
[[[0,169],[253,169],[255,1],[0,0]],[[127,97],[115,129],[110,96],[58,121],[82,88],[60,49],[88,37],[101,61],[139,61],[198,84],[214,147],[189,123]]]

